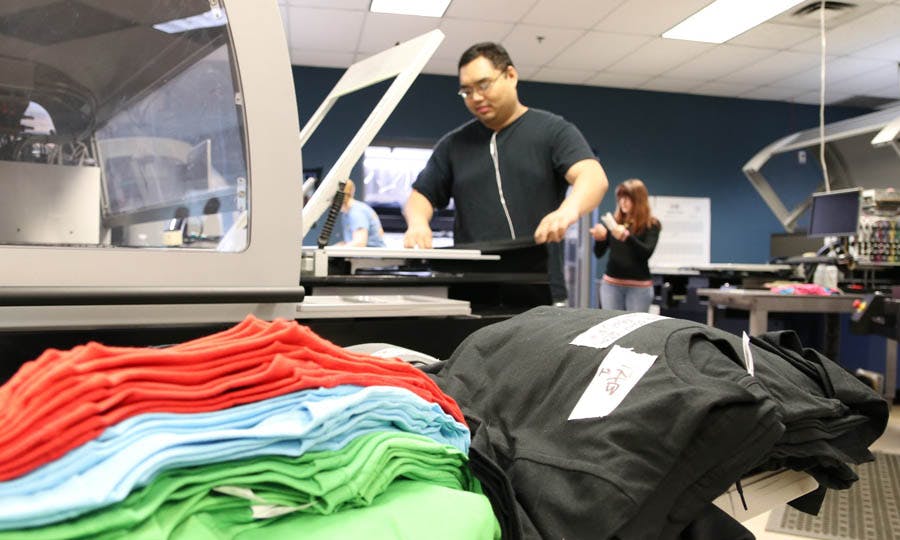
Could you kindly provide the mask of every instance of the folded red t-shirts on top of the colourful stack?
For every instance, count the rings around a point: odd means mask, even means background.
[[[413,366],[351,353],[295,321],[253,316],[172,347],[48,349],[0,387],[0,480],[27,473],[131,416],[205,412],[307,388],[406,388],[464,422]],[[26,413],[27,411],[27,413]]]

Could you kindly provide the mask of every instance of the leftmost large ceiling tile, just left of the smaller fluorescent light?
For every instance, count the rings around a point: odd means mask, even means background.
[[[288,14],[291,49],[352,52],[364,18],[365,13],[361,11],[291,7]],[[335,28],[344,31],[335,32]]]

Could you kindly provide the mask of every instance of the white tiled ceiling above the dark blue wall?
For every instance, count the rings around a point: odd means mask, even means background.
[[[279,4],[295,65],[347,67],[440,28],[425,73],[455,76],[466,47],[498,41],[524,80],[819,102],[817,14],[792,9],[721,45],[660,37],[711,1],[452,0],[440,19],[370,13],[369,0]],[[900,100],[900,0],[844,1],[856,7],[827,23],[826,102]]]

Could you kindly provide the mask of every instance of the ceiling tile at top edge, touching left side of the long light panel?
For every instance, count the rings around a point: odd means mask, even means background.
[[[628,0],[600,21],[594,30],[659,36],[709,3],[710,0]]]

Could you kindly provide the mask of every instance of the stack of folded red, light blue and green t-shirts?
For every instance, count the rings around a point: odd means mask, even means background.
[[[48,350],[0,387],[0,417],[3,539],[288,534],[389,492],[414,514],[420,491],[459,499],[474,537],[499,536],[455,402],[412,366],[293,321],[249,317],[161,349]]]

